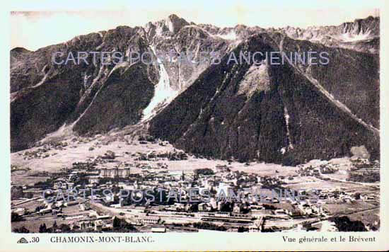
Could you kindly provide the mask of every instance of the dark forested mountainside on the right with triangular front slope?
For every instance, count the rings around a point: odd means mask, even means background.
[[[266,33],[253,35],[234,51],[236,55],[241,50],[252,53],[278,51],[279,42],[275,40],[283,37],[274,35],[274,38]],[[318,45],[310,42],[287,40],[284,42],[289,43],[287,46],[294,43],[301,51],[318,49],[315,48]],[[156,115],[151,120],[150,132],[187,151],[221,159],[268,162],[280,162],[291,156],[298,162],[330,159],[347,155],[352,146],[360,144],[366,144],[377,156],[379,138],[376,132],[355,120],[347,110],[339,108],[310,81],[312,75],[325,85],[341,86],[344,85],[342,80],[346,79],[353,81],[352,85],[347,83],[342,87],[349,96],[356,88],[378,98],[378,74],[374,71],[378,69],[377,62],[371,59],[373,56],[359,52],[323,49],[330,52],[331,59],[334,56],[337,67],[317,65],[310,69],[313,74],[308,69],[298,71],[296,68],[301,66],[290,64],[227,64],[226,56],[221,64],[204,71],[190,88]],[[357,65],[359,71],[355,71],[353,67],[341,64],[347,57],[348,60],[366,57],[366,62],[371,64]],[[366,71],[372,74],[366,76]],[[338,78],[337,72],[344,76]],[[347,79],[352,74],[355,76]],[[255,83],[250,86],[248,82],[252,79]],[[335,98],[337,95],[335,93]],[[352,99],[344,102],[364,107],[357,115],[370,118],[366,122],[368,125],[377,123],[374,120],[379,115],[379,108],[374,107],[376,103],[365,107],[371,101],[369,96]]]

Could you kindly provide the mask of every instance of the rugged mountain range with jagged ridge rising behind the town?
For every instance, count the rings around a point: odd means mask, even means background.
[[[131,125],[192,154],[298,164],[380,154],[378,17],[338,26],[260,28],[175,15],[40,48],[11,50],[11,151],[53,132]],[[220,64],[52,64],[54,52],[212,51]],[[328,64],[228,64],[231,52],[327,52]],[[111,59],[108,59],[111,60]]]

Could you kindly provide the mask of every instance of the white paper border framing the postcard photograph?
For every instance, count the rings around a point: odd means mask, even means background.
[[[71,3],[71,8],[76,6],[76,3],[82,5],[82,8],[102,8],[108,6],[108,4],[96,5],[96,3],[101,3],[102,1],[76,1]],[[110,1],[109,6],[114,6],[114,1]],[[182,3],[184,4],[184,3]],[[223,4],[223,2],[221,2]],[[389,222],[387,214],[387,200],[388,200],[388,175],[389,171],[385,171],[388,162],[388,156],[385,154],[388,153],[385,150],[388,150],[389,142],[388,133],[383,129],[386,129],[388,126],[388,116],[389,116],[389,86],[388,86],[388,66],[389,59],[386,57],[388,53],[388,34],[389,25],[388,25],[388,3],[381,1],[380,16],[381,16],[381,74],[380,74],[380,83],[381,83],[381,231],[378,232],[354,232],[354,233],[344,233],[344,232],[286,232],[286,233],[195,233],[195,234],[178,234],[178,233],[168,233],[168,234],[13,234],[11,233],[11,222],[10,217],[10,181],[11,173],[9,170],[10,167],[10,156],[9,156],[9,146],[10,146],[10,129],[9,129],[9,34],[10,34],[10,25],[9,25],[9,11],[21,11],[21,10],[42,10],[42,9],[58,9],[69,7],[69,1],[14,1],[13,6],[9,4],[2,3],[6,5],[6,10],[1,11],[1,33],[4,35],[3,39],[0,40],[0,50],[1,50],[1,116],[3,117],[1,122],[1,131],[0,131],[0,150],[2,156],[2,168],[0,183],[3,188],[2,193],[0,194],[0,223],[1,223],[1,234],[0,234],[0,251],[258,251],[258,250],[280,250],[280,251],[293,251],[293,250],[308,250],[308,251],[387,251],[389,250]],[[119,1],[119,6],[120,6]],[[48,7],[47,7],[48,6]],[[98,7],[95,7],[98,6]],[[308,6],[307,6],[308,8]],[[385,32],[384,32],[385,31]],[[352,234],[353,236],[361,237],[376,237],[376,243],[369,242],[358,242],[350,244],[348,242],[344,243],[313,243],[313,244],[291,244],[284,243],[282,236],[295,237],[296,239],[307,236],[307,237],[320,237],[326,236],[327,238],[335,236],[348,236]],[[91,236],[152,236],[156,241],[154,243],[146,244],[52,244],[49,239],[51,236],[81,236],[81,235],[91,235]],[[39,236],[39,244],[16,244],[16,241],[21,237],[32,237]]]

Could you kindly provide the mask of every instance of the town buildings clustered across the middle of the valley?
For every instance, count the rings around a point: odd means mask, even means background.
[[[115,155],[110,156],[110,159],[115,159]],[[149,158],[153,158],[153,155],[146,155],[146,159]],[[139,172],[131,173],[132,167],[139,168]],[[318,176],[320,173],[336,171],[336,167],[320,164],[317,167],[301,166],[298,174]],[[277,194],[274,195],[274,190],[287,189],[285,181],[284,176],[258,176],[255,173],[233,171],[227,165],[182,171],[168,169],[163,161],[149,164],[136,160],[132,164],[121,163],[115,167],[78,163],[61,176],[52,178],[42,189],[52,189],[52,195],[59,190],[71,188],[93,188],[100,192],[110,189],[113,194],[109,197],[101,194],[82,197],[79,194],[71,202],[47,202],[40,198],[42,205],[35,211],[30,210],[26,214],[23,207],[13,207],[13,212],[27,217],[52,214],[53,218],[69,219],[71,230],[108,231],[112,229],[112,219],[117,217],[142,231],[166,231],[172,227],[193,231],[196,230],[194,224],[202,223],[197,226],[203,225],[215,230],[222,227],[228,231],[257,232],[264,231],[273,222],[277,227],[291,229],[295,226],[295,220],[323,221],[331,216],[331,212],[325,207],[327,202],[378,200],[375,194],[356,195],[347,193],[342,188],[301,190],[298,200],[292,195],[280,199]],[[168,194],[163,200],[161,198],[154,201],[137,201],[129,197],[122,200],[120,195],[120,190],[137,190],[138,193],[134,196],[139,199],[143,196],[139,191],[157,188],[180,194],[178,198],[177,195],[173,197]],[[190,190],[197,190],[197,195],[190,195]],[[258,190],[260,196],[255,197],[253,192]],[[207,200],[199,193],[201,191],[208,192]],[[220,197],[222,192],[223,198]],[[64,211],[66,207],[75,205],[78,207],[73,208],[74,212]]]

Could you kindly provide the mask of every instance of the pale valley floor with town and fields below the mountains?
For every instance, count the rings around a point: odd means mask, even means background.
[[[112,217],[127,223],[120,226],[128,229],[124,231],[344,231],[347,225],[364,231],[379,229],[379,183],[347,181],[353,167],[347,157],[314,160],[297,167],[242,164],[197,158],[168,142],[96,136],[72,137],[18,151],[11,154],[11,164],[11,210],[18,213],[12,222],[13,231],[23,231],[24,227],[37,232],[42,224],[57,228],[58,232],[118,231],[113,227]],[[91,164],[93,167],[89,167]],[[323,167],[336,169],[322,173]],[[129,168],[129,177],[114,179],[101,171],[115,168]],[[187,190],[197,186],[219,192],[220,188],[260,188],[269,202],[221,204],[214,200],[214,194],[211,203],[195,207],[182,202],[117,205],[102,198],[92,202],[91,197],[78,197],[74,205],[64,202],[53,205],[42,198],[42,183],[45,188],[57,191],[85,186],[85,181],[97,188],[116,186],[131,190],[157,187]],[[289,197],[279,201],[272,195],[274,188],[301,190],[317,200],[308,197],[298,202]],[[28,200],[31,197],[38,200]]]

